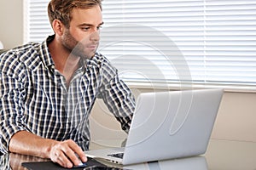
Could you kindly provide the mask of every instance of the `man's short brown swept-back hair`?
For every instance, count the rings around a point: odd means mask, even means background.
[[[102,9],[102,0],[51,0],[48,5],[49,22],[52,24],[54,20],[61,20],[68,28],[73,8],[92,8],[96,5]]]

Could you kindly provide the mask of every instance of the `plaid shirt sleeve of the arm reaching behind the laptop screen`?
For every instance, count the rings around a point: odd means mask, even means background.
[[[135,110],[135,99],[131,89],[119,78],[118,70],[108,59],[103,61],[101,71],[100,97],[108,106],[108,110],[121,123],[122,129],[128,133]]]

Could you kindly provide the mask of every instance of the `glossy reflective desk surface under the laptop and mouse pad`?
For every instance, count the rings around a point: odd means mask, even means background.
[[[104,147],[106,144],[91,144],[92,149]],[[1,156],[0,169],[25,170],[21,167],[24,161],[49,161],[33,156],[22,156],[9,154]],[[101,161],[104,163],[104,161]],[[107,162],[105,162],[107,163]],[[110,164],[114,165],[114,164]],[[256,143],[227,141],[211,139],[207,152],[203,156],[194,156],[185,159],[159,161],[154,163],[143,163],[139,165],[126,166],[131,169],[163,170],[169,167],[177,170],[256,170]]]

